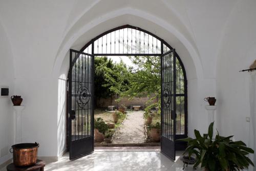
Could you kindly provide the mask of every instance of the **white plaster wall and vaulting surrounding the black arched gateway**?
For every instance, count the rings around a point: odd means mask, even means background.
[[[217,96],[217,128],[223,134],[236,134],[236,139],[248,139],[243,134],[249,130],[245,122],[245,115],[249,115],[248,93],[242,93],[248,92],[244,84],[246,74],[237,71],[247,68],[255,58],[253,3],[252,0],[0,1],[0,19],[14,56],[15,93],[24,97],[26,105],[23,140],[39,142],[39,156],[57,157],[65,150],[68,51],[79,50],[98,34],[125,24],[150,31],[177,50],[188,78],[189,136],[193,136],[194,129],[207,130],[203,98]],[[2,34],[5,33],[0,30]],[[0,48],[5,47],[2,40],[1,36]],[[2,62],[3,57],[0,58]],[[4,71],[13,70],[6,66],[2,69],[0,76],[9,78],[9,72]],[[0,105],[11,110],[10,100],[2,101]],[[240,123],[243,129],[237,126]],[[0,133],[1,141],[6,135],[1,130]]]

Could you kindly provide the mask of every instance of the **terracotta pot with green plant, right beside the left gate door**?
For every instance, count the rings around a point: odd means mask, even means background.
[[[104,140],[104,134],[108,131],[109,126],[102,118],[94,119],[94,136],[96,142],[102,142]]]

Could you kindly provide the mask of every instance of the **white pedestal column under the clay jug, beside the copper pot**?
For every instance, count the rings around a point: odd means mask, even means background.
[[[22,111],[25,109],[24,105],[14,105],[15,124],[14,135],[15,144],[22,143]]]

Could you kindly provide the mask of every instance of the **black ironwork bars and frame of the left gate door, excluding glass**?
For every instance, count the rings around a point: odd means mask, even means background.
[[[75,57],[74,57],[74,60],[72,59],[72,53],[75,53]],[[74,65],[76,66],[75,64],[75,61],[78,59],[78,57],[80,58],[80,55],[84,55],[84,57],[86,56],[91,56],[91,68],[89,68],[89,58],[88,58],[88,76],[89,76],[89,71],[91,70],[91,74],[94,75],[94,56],[92,54],[87,54],[87,53],[83,53],[83,52],[80,52],[80,51],[76,51],[76,50],[70,50],[70,71],[69,71],[69,78],[68,78],[68,83],[69,83],[69,93],[68,93],[68,97],[69,99],[67,100],[68,101],[68,128],[69,128],[69,131],[68,131],[68,140],[69,140],[69,153],[70,153],[70,160],[74,160],[74,159],[77,159],[79,157],[82,157],[82,156],[86,156],[90,153],[92,153],[94,151],[94,101],[92,100],[94,97],[94,77],[91,77],[91,80],[88,79],[88,82],[86,81],[86,79],[84,80],[84,84],[86,86],[86,83],[88,84],[88,87],[89,87],[89,84],[91,84],[91,108],[90,108],[90,136],[89,136],[89,122],[88,122],[88,119],[89,119],[89,103],[87,104],[87,109],[84,107],[84,106],[78,106],[78,109],[75,109],[73,110],[72,109],[72,83],[73,82],[79,82],[79,74],[78,73],[78,81],[73,81],[72,79],[72,69],[74,67]],[[72,61],[72,62],[71,62]],[[79,62],[80,62],[80,59],[79,59]],[[84,62],[86,62],[86,60],[84,60]],[[84,68],[86,70],[86,63],[84,63]],[[78,66],[78,68],[80,69],[80,64]],[[81,68],[83,69],[83,67]],[[86,78],[86,72],[84,73],[85,75],[85,78]],[[81,74],[83,76],[83,74]],[[81,78],[82,78],[81,76]],[[75,76],[76,77],[76,76]],[[89,77],[88,77],[89,78]],[[82,80],[80,80],[82,81]],[[86,82],[86,83],[85,83]],[[78,91],[77,91],[78,92]],[[76,89],[75,89],[75,93],[76,92]],[[75,100],[77,102],[77,94],[75,94]],[[76,103],[75,103],[76,105]],[[80,109],[79,109],[80,108]],[[72,120],[73,119],[76,119],[76,114],[75,114],[75,111],[78,110],[78,139],[77,138],[77,135],[76,135],[76,126],[72,128]],[[86,126],[83,127],[83,123],[82,123],[82,127],[81,127],[81,134],[84,133],[84,135],[79,135],[79,110],[87,110],[87,115],[83,115],[81,113],[81,119],[84,117],[84,119],[86,119],[87,117],[87,136],[86,136],[86,131],[84,131],[83,129],[86,129]],[[75,129],[75,140],[73,140],[73,137],[72,137],[72,129]],[[80,137],[79,137],[80,136]]]

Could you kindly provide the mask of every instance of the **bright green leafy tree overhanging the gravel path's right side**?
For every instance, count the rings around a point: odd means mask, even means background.
[[[119,99],[129,97],[150,97],[146,110],[160,107],[160,58],[158,56],[130,57],[133,67],[127,68],[123,61],[116,63],[114,70],[106,68],[105,87],[119,95]],[[153,100],[157,99],[157,102]]]

